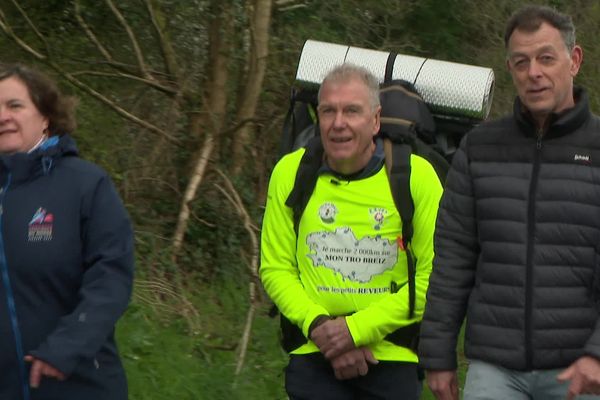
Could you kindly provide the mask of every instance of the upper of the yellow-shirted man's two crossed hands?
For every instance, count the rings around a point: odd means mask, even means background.
[[[344,317],[323,322],[312,330],[310,339],[330,361],[356,348]]]

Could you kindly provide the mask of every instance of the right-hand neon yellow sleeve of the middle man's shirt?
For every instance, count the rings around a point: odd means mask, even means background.
[[[377,343],[387,334],[420,321],[423,317],[425,293],[429,285],[434,254],[433,233],[442,196],[442,184],[431,164],[416,155],[411,156],[410,189],[415,205],[411,248],[416,260],[414,318],[408,319],[408,285],[403,285],[395,294],[346,317],[350,334],[357,347]]]

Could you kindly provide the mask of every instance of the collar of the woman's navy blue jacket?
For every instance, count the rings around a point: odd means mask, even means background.
[[[65,156],[77,155],[75,142],[69,135],[48,139],[31,153],[0,156],[0,174],[11,174],[11,183],[17,184],[40,175],[48,175],[56,161]]]

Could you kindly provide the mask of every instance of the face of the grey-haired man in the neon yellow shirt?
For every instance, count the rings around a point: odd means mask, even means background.
[[[327,82],[317,110],[329,166],[342,174],[364,168],[375,151],[381,110],[372,109],[367,86],[359,78]]]

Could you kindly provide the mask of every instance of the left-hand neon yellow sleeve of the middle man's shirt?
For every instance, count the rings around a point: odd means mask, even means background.
[[[260,278],[279,311],[308,337],[312,321],[329,313],[304,291],[296,260],[293,213],[285,205],[303,154],[300,149],[285,156],[271,174],[261,232]]]

